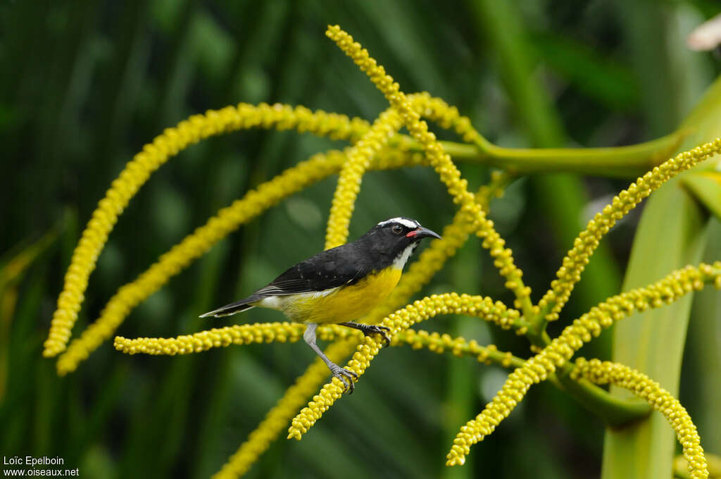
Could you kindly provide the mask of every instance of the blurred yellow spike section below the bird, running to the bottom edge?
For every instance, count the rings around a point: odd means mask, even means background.
[[[348,328],[344,329],[348,330]],[[331,361],[337,363],[348,357],[356,344],[355,341],[333,343],[325,352]],[[318,390],[319,384],[322,384],[326,377],[328,377],[328,366],[318,358],[304,374],[298,377],[296,383],[286,390],[255,431],[249,434],[248,439],[241,444],[223,468],[213,475],[213,479],[234,479],[246,473],[270,443],[278,438],[280,431],[288,427],[288,421],[293,414],[313,392]]]

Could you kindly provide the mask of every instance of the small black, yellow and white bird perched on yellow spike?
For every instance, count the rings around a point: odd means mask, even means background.
[[[354,242],[319,252],[301,261],[272,283],[245,299],[206,312],[200,317],[229,316],[252,307],[282,311],[291,321],[308,327],[303,339],[327,364],[333,376],[350,394],[357,374],[333,363],[316,345],[316,329],[322,324],[339,324],[380,334],[390,342],[388,328],[351,322],[383,301],[398,284],[403,266],[426,237],[438,234],[410,218],[392,218],[376,224]]]

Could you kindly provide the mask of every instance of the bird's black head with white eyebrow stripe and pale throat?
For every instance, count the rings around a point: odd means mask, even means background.
[[[428,237],[441,236],[420,226],[415,219],[399,217],[381,221],[358,241],[373,251],[381,263],[403,268],[420,240]]]

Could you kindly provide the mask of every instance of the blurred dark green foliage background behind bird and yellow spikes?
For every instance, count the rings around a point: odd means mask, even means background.
[[[60,379],[40,351],[84,223],[125,162],[163,128],[237,102],[302,104],[368,119],[386,107],[324,38],[328,23],[361,41],[404,91],[428,90],[457,105],[497,144],[614,146],[671,132],[718,74],[717,56],[691,53],[683,41],[716,8],[710,0],[632,7],[532,0],[503,8],[427,0],[1,3],[0,455],[60,456],[90,478],[207,478],[312,361],[302,344],[167,358],[121,356],[105,343]],[[76,330],[218,208],[337,146],[292,132],[247,131],[183,151],[120,217]],[[471,189],[487,180],[477,165],[460,167]],[[626,184],[539,176],[492,203],[534,299],[572,237]],[[247,294],[322,247],[334,187],[334,179],[324,180],[231,234],[141,304],[119,333],[167,337],[208,328],[200,312]],[[430,169],[370,172],[351,237],[391,216],[439,229],[453,214]],[[601,265],[585,274],[559,323],[618,291],[636,222],[632,216],[611,232]],[[451,289],[512,302],[476,239],[425,293]],[[717,296],[702,302],[697,316],[718,331]],[[232,321],[279,319],[253,310]],[[523,340],[477,320],[428,327],[527,355]],[[718,333],[691,327],[684,363],[690,379],[681,384],[681,402],[688,401],[711,452],[721,452],[714,426],[721,413],[712,400],[721,385],[709,384],[704,371],[720,366],[720,341]],[[609,357],[607,340],[589,347],[588,354]],[[597,477],[603,424],[548,385],[534,388],[474,448],[469,465],[443,467],[457,427],[503,379],[471,359],[384,351],[363,387],[303,441],[273,444],[248,476],[323,478],[343,470],[347,478]]]

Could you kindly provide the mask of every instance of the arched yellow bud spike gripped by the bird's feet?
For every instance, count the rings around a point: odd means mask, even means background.
[[[394,336],[407,330],[417,322],[428,320],[437,315],[449,314],[478,316],[500,325],[512,324],[520,316],[516,309],[507,309],[503,303],[493,302],[490,298],[447,293],[434,294],[419,299],[413,304],[409,304],[407,307],[389,315],[381,324],[389,328],[390,334]],[[375,338],[364,338],[363,342],[358,346],[358,350],[348,361],[347,369],[361,376],[379,352],[379,347],[379,341]],[[334,377],[333,381],[326,384],[319,392],[319,395],[314,397],[314,400],[293,418],[291,427],[288,429],[288,439],[301,439],[301,436],[342,395],[343,390],[340,380]]]

